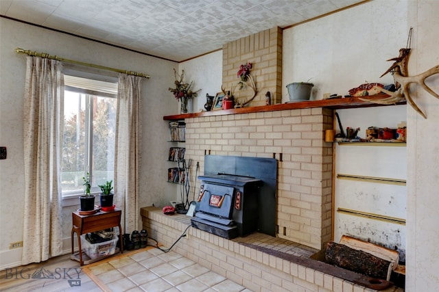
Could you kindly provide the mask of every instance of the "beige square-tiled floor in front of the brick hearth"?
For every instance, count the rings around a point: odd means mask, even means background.
[[[89,267],[107,291],[239,292],[250,290],[176,252],[156,248]]]

